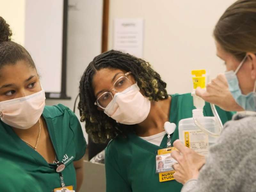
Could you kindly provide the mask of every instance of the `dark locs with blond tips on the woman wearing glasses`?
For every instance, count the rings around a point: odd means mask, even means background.
[[[125,136],[133,130],[132,125],[116,123],[116,120],[108,117],[94,105],[96,98],[92,88],[92,78],[95,72],[102,68],[131,71],[140,90],[149,100],[158,101],[168,98],[166,83],[145,60],[114,50],[96,56],[85,69],[80,80],[78,103],[80,120],[85,121],[85,130],[95,143],[105,143],[106,140],[113,139],[118,134]]]

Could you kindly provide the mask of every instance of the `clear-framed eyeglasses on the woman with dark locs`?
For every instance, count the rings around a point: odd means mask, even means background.
[[[132,74],[131,71],[125,73],[124,76],[119,77],[114,83],[114,88],[110,89],[108,92],[102,93],[100,97],[98,97],[98,99],[94,102],[94,105],[98,105],[100,108],[105,109],[114,98],[112,92],[110,91],[113,90],[115,92],[122,92],[130,88],[132,83],[127,77],[130,74]]]

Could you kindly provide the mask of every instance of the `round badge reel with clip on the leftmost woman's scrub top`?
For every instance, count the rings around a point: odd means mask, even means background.
[[[55,188],[53,189],[54,192],[75,192],[73,190],[73,186],[65,186],[62,171],[65,169],[65,164],[62,162],[59,162],[58,160],[55,160],[55,171],[60,174],[60,184],[61,188]]]

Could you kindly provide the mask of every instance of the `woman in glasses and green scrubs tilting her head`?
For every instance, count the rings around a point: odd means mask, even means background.
[[[79,111],[94,142],[106,148],[107,192],[180,191],[175,180],[159,182],[156,151],[166,148],[164,123],[192,117],[190,94],[168,95],[166,83],[150,64],[119,51],[96,56],[79,86]],[[232,113],[217,108],[222,122]],[[209,103],[205,116],[213,116]],[[171,141],[179,138],[178,126]]]

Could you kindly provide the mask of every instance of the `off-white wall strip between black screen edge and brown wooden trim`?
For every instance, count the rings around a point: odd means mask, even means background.
[[[73,110],[79,81],[85,68],[101,52],[102,0],[71,1],[68,11],[67,96],[71,100],[46,100],[46,105],[61,103]],[[77,105],[77,103],[76,103]],[[80,119],[76,107],[76,116]],[[83,131],[84,123],[82,124]],[[84,132],[85,139],[88,136]]]

